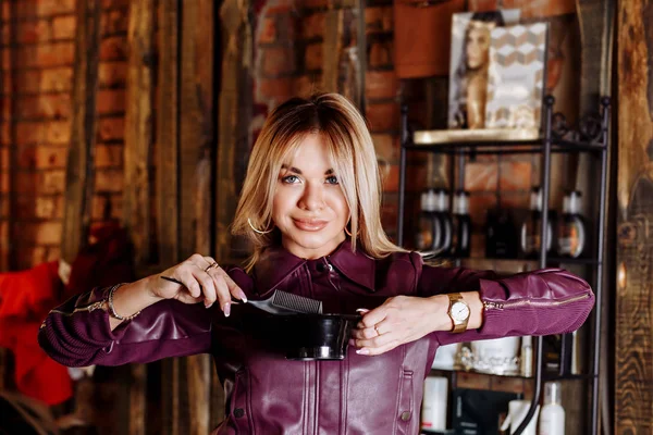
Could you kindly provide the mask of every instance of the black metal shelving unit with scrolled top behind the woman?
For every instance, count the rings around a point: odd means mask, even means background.
[[[565,372],[564,364],[560,363],[560,372],[551,376],[550,373],[543,373],[542,361],[542,338],[534,337],[535,350],[535,372],[533,376],[534,388],[533,398],[523,422],[517,428],[516,435],[523,432],[530,420],[535,413],[535,408],[541,401],[542,382],[556,380],[587,380],[591,381],[591,422],[589,425],[590,434],[595,434],[599,425],[599,360],[600,360],[600,332],[601,332],[601,310],[603,302],[603,250],[604,250],[604,229],[606,224],[605,203],[607,195],[607,150],[608,150],[608,126],[609,126],[609,97],[602,97],[600,101],[599,115],[586,115],[582,117],[576,128],[568,127],[564,116],[554,113],[555,99],[546,96],[543,100],[543,128],[542,137],[531,140],[480,140],[480,141],[455,141],[428,144],[420,140],[416,144],[408,127],[408,109],[402,105],[402,133],[401,133],[401,160],[399,160],[399,197],[398,197],[398,220],[397,220],[397,241],[399,246],[404,245],[404,225],[405,225],[405,202],[406,202],[406,166],[408,152],[438,152],[456,157],[458,166],[458,186],[464,186],[465,157],[478,154],[518,154],[535,153],[541,156],[542,167],[542,210],[550,209],[550,188],[551,188],[551,156],[554,152],[589,152],[599,159],[600,183],[595,195],[599,200],[599,215],[595,221],[595,249],[590,258],[583,259],[559,259],[549,258],[546,244],[541,244],[540,256],[534,259],[540,268],[545,268],[552,263],[576,263],[587,264],[592,268],[593,289],[595,295],[595,307],[593,310],[593,331],[592,344],[593,352],[590,365],[590,372],[583,374],[571,374]],[[423,138],[419,132],[415,135]],[[568,137],[571,136],[571,139]],[[454,185],[454,183],[452,183]],[[540,239],[546,239],[546,227],[549,213],[542,213]],[[456,260],[454,258],[454,260]],[[523,259],[519,259],[523,260]],[[568,335],[563,339],[570,339]]]

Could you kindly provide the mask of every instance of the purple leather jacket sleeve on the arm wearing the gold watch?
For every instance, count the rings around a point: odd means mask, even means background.
[[[463,334],[438,332],[441,345],[522,335],[564,334],[578,330],[594,306],[590,285],[563,269],[543,269],[509,276],[492,271],[417,265],[417,291],[432,296],[479,291],[483,324]]]

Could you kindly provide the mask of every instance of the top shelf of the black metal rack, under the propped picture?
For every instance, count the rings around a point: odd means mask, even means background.
[[[544,139],[525,139],[525,140],[452,140],[440,141],[431,140],[432,130],[417,130],[414,133],[414,144],[405,144],[404,148],[414,151],[444,152],[452,154],[520,154],[520,153],[540,153],[544,150]],[[605,147],[602,144],[580,142],[564,139],[551,140],[551,152],[596,152]]]

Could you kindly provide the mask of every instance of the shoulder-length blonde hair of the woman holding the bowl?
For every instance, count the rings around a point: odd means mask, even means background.
[[[321,135],[328,147],[350,210],[352,248],[360,243],[372,258],[404,251],[387,238],[381,225],[381,182],[372,137],[364,117],[344,97],[318,94],[308,99],[292,98],[267,119],[254,145],[247,176],[241,192],[232,234],[245,235],[254,245],[249,270],[269,246],[281,241],[273,228],[272,200],[282,164],[310,134]],[[251,229],[248,220],[259,231]]]

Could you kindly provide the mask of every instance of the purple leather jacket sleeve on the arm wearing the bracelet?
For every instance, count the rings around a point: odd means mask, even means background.
[[[50,311],[38,343],[54,361],[66,366],[120,365],[210,350],[214,307],[162,300],[111,331],[108,291],[95,288]]]

